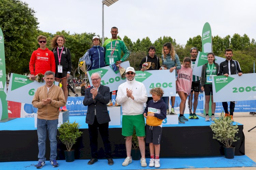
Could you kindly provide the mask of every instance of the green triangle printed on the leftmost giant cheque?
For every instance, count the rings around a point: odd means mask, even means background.
[[[12,89],[15,90],[20,87],[26,86],[29,83],[32,83],[33,81],[29,80],[27,76],[20,75],[20,74],[13,74],[12,75]]]

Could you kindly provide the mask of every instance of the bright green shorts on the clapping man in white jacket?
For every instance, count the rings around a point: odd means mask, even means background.
[[[122,135],[132,136],[135,127],[136,136],[145,136],[145,119],[143,114],[123,115]]]

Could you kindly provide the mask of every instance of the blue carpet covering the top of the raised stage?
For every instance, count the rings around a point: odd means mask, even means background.
[[[184,114],[188,118],[189,114]],[[88,124],[85,123],[85,116],[70,116],[70,122],[76,121],[81,125],[81,129],[88,128]],[[122,120],[122,118],[121,118]],[[177,125],[165,125],[163,127],[176,127],[176,126],[210,126],[212,121],[206,122],[205,118],[200,117],[199,119],[189,119],[185,123],[179,123]],[[236,122],[235,122],[236,123]],[[238,125],[242,125],[238,123]],[[109,126],[109,128],[121,128],[122,126]],[[36,130],[34,127],[34,118],[17,118],[8,122],[0,123],[0,130]]]

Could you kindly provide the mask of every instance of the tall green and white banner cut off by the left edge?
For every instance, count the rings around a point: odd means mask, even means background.
[[[7,86],[4,56],[4,37],[0,28],[0,120],[8,118],[8,104],[6,101]]]

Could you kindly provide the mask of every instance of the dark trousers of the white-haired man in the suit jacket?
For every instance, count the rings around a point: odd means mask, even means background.
[[[91,146],[91,157],[98,158],[98,128],[100,136],[104,143],[106,158],[112,158],[111,156],[111,145],[109,141],[109,122],[99,124],[95,116],[94,123],[92,125],[88,124],[88,131],[90,137]]]

